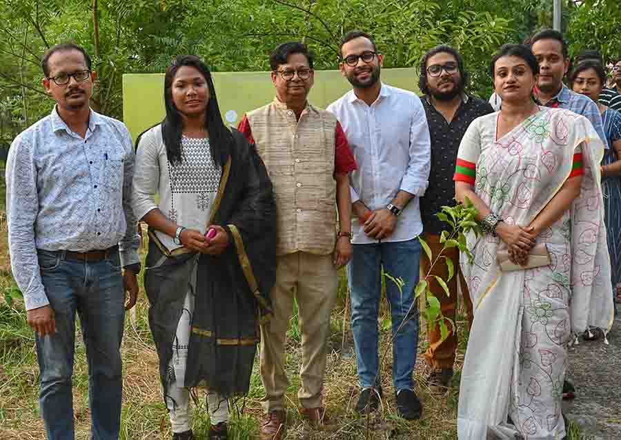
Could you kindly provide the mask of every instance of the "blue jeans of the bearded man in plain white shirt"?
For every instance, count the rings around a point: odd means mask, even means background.
[[[396,334],[393,343],[395,392],[413,388],[412,374],[419,329],[413,290],[419,279],[421,248],[418,239],[353,245],[353,258],[347,266],[347,278],[351,294],[351,330],[362,388],[379,384],[379,381],[375,383],[375,378],[379,367],[377,314],[382,292],[382,267],[386,274],[405,282],[400,292],[397,285],[386,278],[386,297],[391,306],[393,336]],[[410,319],[397,332],[406,316]]]

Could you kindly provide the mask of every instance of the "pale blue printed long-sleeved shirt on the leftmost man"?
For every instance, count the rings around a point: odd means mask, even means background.
[[[54,108],[14,139],[6,164],[8,239],[26,310],[48,304],[37,249],[86,252],[118,243],[123,266],[139,262],[134,160],[124,123],[92,110],[84,138]]]

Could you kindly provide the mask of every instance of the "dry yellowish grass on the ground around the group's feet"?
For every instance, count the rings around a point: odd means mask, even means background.
[[[3,179],[0,179],[3,185]],[[3,203],[3,188],[0,187],[0,200]],[[6,222],[3,206],[0,210],[0,293],[11,289],[14,283],[10,277],[8,249],[6,243]],[[299,388],[299,362],[301,352],[299,338],[295,332],[297,323],[293,322],[288,344],[288,375],[290,386],[287,392],[288,431],[287,439],[456,439],[455,418],[457,411],[457,388],[459,369],[463,360],[466,335],[464,322],[458,321],[460,328],[460,349],[457,371],[453,386],[446,397],[433,397],[424,379],[427,367],[419,357],[415,376],[416,392],[421,397],[424,412],[420,421],[406,422],[395,412],[394,393],[391,383],[391,361],[382,366],[382,386],[384,401],[382,410],[368,419],[359,418],[353,411],[357,399],[357,375],[353,357],[353,339],[349,332],[346,312],[346,287],[342,283],[339,292],[339,305],[333,312],[331,352],[328,356],[326,373],[326,403],[328,410],[337,419],[337,430],[317,432],[304,423],[297,412],[297,389]],[[1,296],[1,295],[0,295]],[[135,314],[128,315],[126,332],[122,346],[124,359],[124,407],[122,412],[121,439],[170,439],[170,424],[161,398],[157,373],[157,354],[155,353],[147,321],[148,303],[141,293]],[[382,325],[386,326],[386,310],[382,307]],[[343,330],[345,329],[345,331]],[[388,341],[389,334],[380,330],[382,343]],[[419,352],[424,352],[426,341],[420,338]],[[76,337],[76,356],[74,374],[74,410],[77,439],[88,439],[90,412],[88,410],[88,370],[81,336]],[[9,306],[0,299],[0,439],[2,440],[41,440],[45,438],[43,422],[38,409],[39,368],[34,354],[34,338],[28,328],[23,305],[18,301]],[[206,434],[204,392],[198,392],[199,405],[195,408],[194,428],[199,435]],[[251,379],[250,393],[246,399],[235,402],[235,415],[231,423],[232,439],[254,439],[258,437],[258,421],[262,410],[259,399],[262,385],[258,366]],[[575,427],[573,427],[575,432]],[[580,434],[570,436],[573,440]],[[199,437],[203,438],[203,437]]]

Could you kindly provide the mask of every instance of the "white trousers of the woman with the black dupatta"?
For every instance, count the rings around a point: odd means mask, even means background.
[[[173,373],[175,377],[174,381],[170,381],[168,390],[166,390],[166,408],[169,411],[172,432],[185,432],[192,428],[188,415],[190,390],[184,388],[184,382],[193,312],[194,295],[192,292],[188,292],[186,294],[184,310],[177,324],[177,334],[175,334],[175,339],[172,341],[172,358],[170,358],[170,363],[168,364],[169,377],[173,377]],[[207,395],[207,406],[212,425],[228,421],[229,410],[226,399],[222,399],[216,392],[210,392]]]

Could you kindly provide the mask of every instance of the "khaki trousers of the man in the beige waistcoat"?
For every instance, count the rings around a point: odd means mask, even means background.
[[[261,327],[261,378],[265,387],[266,412],[284,409],[289,384],[285,371],[285,344],[297,300],[302,334],[302,388],[297,397],[304,408],[322,406],[326,371],[326,342],[330,335],[330,315],[339,279],[332,254],[294,252],[278,257],[276,284],[271,292],[274,316]]]

